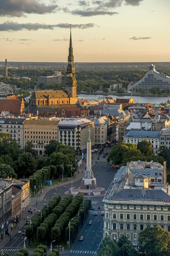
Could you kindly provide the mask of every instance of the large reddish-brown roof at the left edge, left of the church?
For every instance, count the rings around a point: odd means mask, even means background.
[[[0,113],[9,111],[11,114],[20,114],[21,99],[0,99]]]

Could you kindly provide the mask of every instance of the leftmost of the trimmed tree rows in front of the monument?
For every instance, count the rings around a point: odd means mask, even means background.
[[[34,241],[34,236],[37,234],[37,229],[40,227],[41,223],[48,218],[49,215],[52,214],[53,209],[61,203],[61,196],[55,195],[54,198],[48,203],[48,206],[43,207],[40,214],[37,215],[35,218],[31,219],[31,225],[28,224],[26,227],[26,237],[29,239],[29,244],[31,239]]]

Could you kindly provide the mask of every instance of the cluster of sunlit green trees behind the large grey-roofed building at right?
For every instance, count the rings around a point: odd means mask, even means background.
[[[159,162],[163,165],[165,159],[160,155],[156,155],[152,148],[151,142],[142,140],[137,145],[132,143],[119,143],[113,146],[107,160],[112,161],[114,164],[126,165],[130,161],[151,161]]]

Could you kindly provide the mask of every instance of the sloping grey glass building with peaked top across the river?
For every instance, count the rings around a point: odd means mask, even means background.
[[[155,66],[150,64],[149,71],[146,75],[141,80],[133,84],[127,91],[141,92],[144,90],[146,92],[151,92],[153,87],[158,87],[160,90],[169,89],[170,77],[157,72]]]

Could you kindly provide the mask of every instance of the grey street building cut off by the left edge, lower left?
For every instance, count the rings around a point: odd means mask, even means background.
[[[0,178],[0,240],[11,231],[12,182]]]

